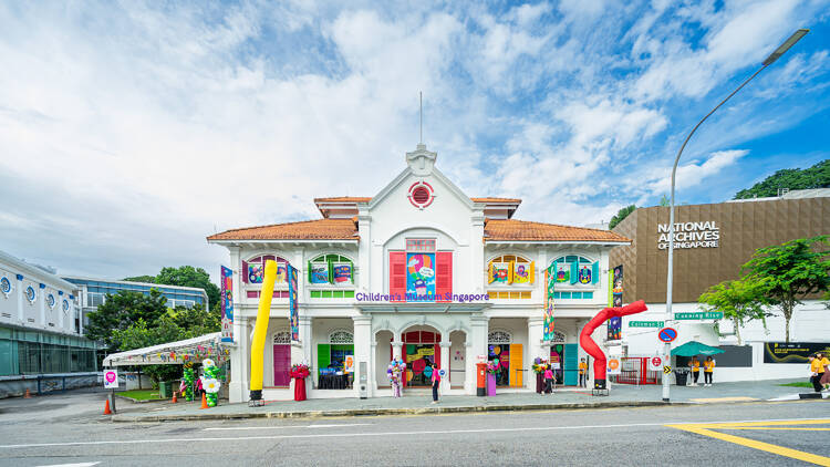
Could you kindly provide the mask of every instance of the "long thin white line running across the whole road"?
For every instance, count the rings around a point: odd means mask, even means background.
[[[818,418],[789,418],[777,422],[796,422],[793,425],[810,423]],[[758,421],[734,421],[734,422],[698,422],[693,425],[712,425],[712,424],[737,424],[755,423]],[[767,423],[759,422],[759,423]],[[569,429],[608,429],[608,428],[631,428],[635,426],[685,426],[688,422],[672,423],[631,423],[619,425],[581,425],[581,426],[529,426],[520,428],[480,428],[480,429],[435,429],[424,432],[373,432],[373,433],[325,433],[314,435],[271,435],[271,436],[239,436],[239,437],[210,437],[210,438],[159,438],[159,439],[122,439],[122,440],[103,440],[103,442],[66,442],[66,443],[34,443],[34,444],[13,444],[0,445],[0,449],[17,449],[30,447],[49,447],[49,446],[94,446],[94,445],[118,445],[118,444],[142,444],[142,443],[195,443],[195,442],[243,442],[243,440],[263,440],[263,439],[292,439],[292,438],[347,438],[347,437],[370,437],[370,436],[417,436],[417,435],[450,435],[457,433],[509,433],[509,432],[556,432]]]

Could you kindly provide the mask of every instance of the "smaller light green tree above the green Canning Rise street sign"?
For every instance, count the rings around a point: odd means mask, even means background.
[[[762,286],[740,279],[723,281],[701,294],[697,302],[706,311],[723,311],[724,319],[732,320],[735,326],[738,345],[744,345],[740,328],[753,320],[764,321],[766,328],[766,318],[771,314],[764,310],[766,299]]]

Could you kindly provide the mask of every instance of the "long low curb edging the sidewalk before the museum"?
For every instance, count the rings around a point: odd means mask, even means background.
[[[603,402],[596,404],[533,404],[533,405],[470,405],[459,407],[414,407],[414,408],[356,408],[336,411],[302,411],[302,412],[237,412],[232,414],[178,414],[178,415],[113,415],[112,422],[189,422],[219,421],[243,418],[313,418],[313,417],[351,417],[378,415],[437,415],[478,412],[519,412],[519,411],[560,411],[610,407],[654,407],[667,405],[688,405],[683,402],[639,401],[639,402]]]

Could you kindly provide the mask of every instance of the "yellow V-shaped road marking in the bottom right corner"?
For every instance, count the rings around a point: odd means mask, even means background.
[[[740,446],[750,447],[753,449],[764,450],[766,453],[776,454],[792,459],[803,460],[806,463],[812,463],[820,466],[830,467],[830,457],[819,456],[817,454],[805,453],[803,450],[790,449],[788,447],[778,446],[769,443],[764,443],[750,438],[744,438],[735,435],[727,435],[726,433],[715,432],[714,429],[788,429],[785,425],[829,425],[830,418],[824,419],[800,419],[800,421],[756,421],[756,422],[726,422],[726,423],[701,423],[701,424],[678,424],[678,425],[666,425],[671,428],[682,429],[684,432],[695,433],[702,436],[708,436],[710,438],[720,439],[727,443],[734,443]],[[816,427],[800,429],[812,429],[818,430]]]

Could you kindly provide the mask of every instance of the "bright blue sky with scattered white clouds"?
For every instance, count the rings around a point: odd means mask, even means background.
[[[0,2],[0,250],[193,264],[217,231],[373,196],[418,143],[471,197],[582,226],[830,157],[830,0]]]

